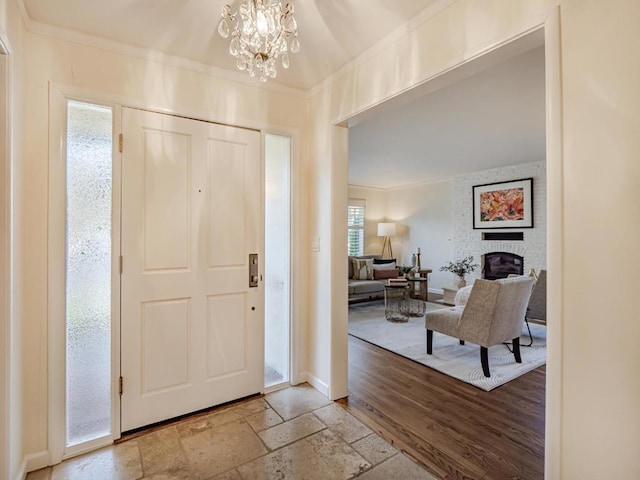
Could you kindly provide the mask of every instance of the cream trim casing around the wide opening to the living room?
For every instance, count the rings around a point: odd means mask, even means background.
[[[561,413],[562,413],[562,325],[563,325],[563,245],[564,245],[564,206],[563,198],[563,140],[562,140],[562,44],[560,25],[560,6],[555,5],[549,8],[546,18],[540,23],[532,25],[527,30],[517,32],[512,37],[496,43],[485,50],[478,52],[470,58],[461,61],[459,64],[435,73],[432,77],[424,79],[411,88],[404,89],[397,94],[378,101],[375,105],[370,105],[344,117],[336,118],[331,122],[334,138],[332,139],[332,149],[335,163],[342,169],[341,177],[336,181],[336,192],[333,194],[333,202],[342,211],[347,210],[347,187],[346,169],[348,166],[347,142],[344,139],[344,132],[348,122],[353,119],[367,118],[373,111],[396,96],[400,96],[413,88],[433,83],[437,85],[441,77],[450,72],[455,72],[459,67],[463,67],[470,62],[481,58],[505,45],[515,42],[522,37],[541,31],[544,35],[545,47],[545,123],[546,123],[546,167],[547,167],[547,265],[549,271],[549,283],[547,285],[547,311],[548,316],[553,319],[549,323],[548,329],[548,349],[546,367],[546,399],[545,399],[545,478],[560,478],[560,467],[562,460],[561,442]],[[384,108],[384,107],[383,107]],[[344,180],[344,181],[343,181]],[[333,237],[338,238],[335,232],[345,231],[346,228],[340,215],[332,219]],[[337,247],[336,247],[336,250]],[[338,263],[332,265],[333,276],[343,278],[343,265],[346,263],[338,255]],[[336,274],[336,272],[338,272]],[[340,307],[333,315],[332,347],[331,347],[331,379],[330,388],[332,398],[345,396],[348,392],[348,346],[344,341],[343,332],[346,331],[347,308],[344,289],[339,283],[333,285],[331,297],[337,299]],[[335,366],[335,368],[333,367]]]

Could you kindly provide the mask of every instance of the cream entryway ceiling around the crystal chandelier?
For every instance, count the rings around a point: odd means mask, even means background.
[[[217,33],[230,0],[18,0],[31,31],[133,46],[238,72],[229,40]],[[283,0],[286,3],[287,0]],[[429,6],[450,0],[289,0],[301,51],[271,83],[307,91]],[[240,0],[231,2],[235,11]],[[426,12],[429,13],[429,12]],[[256,80],[257,82],[257,80]]]

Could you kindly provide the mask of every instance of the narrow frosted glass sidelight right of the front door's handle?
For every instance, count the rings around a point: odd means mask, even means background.
[[[265,387],[289,381],[291,139],[265,138]]]

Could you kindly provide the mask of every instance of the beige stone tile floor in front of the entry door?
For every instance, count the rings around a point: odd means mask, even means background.
[[[433,480],[341,406],[301,385],[167,425],[27,480]]]

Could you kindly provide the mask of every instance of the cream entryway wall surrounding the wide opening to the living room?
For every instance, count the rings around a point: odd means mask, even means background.
[[[550,159],[560,165],[547,165],[553,172],[548,198],[556,202],[548,207],[548,224],[554,226],[549,301],[556,323],[547,366],[546,473],[554,480],[632,480],[640,477],[640,350],[633,346],[640,337],[640,250],[634,244],[640,235],[640,2],[458,0],[325,82],[314,92],[312,112],[316,124],[341,122],[544,25],[557,6],[562,85],[548,118],[560,119],[553,134],[562,153]],[[339,170],[346,145],[344,152],[328,148],[332,135],[326,127],[313,135],[311,169]],[[344,197],[346,211],[346,174],[314,180],[325,195]],[[330,237],[345,230],[343,219],[327,212],[336,204],[324,195],[310,198],[309,206],[317,231]],[[326,258],[330,264],[314,262],[312,284],[344,277],[345,255],[336,247],[333,258]],[[607,261],[594,261],[596,255]],[[334,282],[329,290],[313,292],[318,304],[331,304],[344,290]],[[346,324],[346,313],[325,313],[310,312],[318,333]],[[332,364],[346,369],[343,344],[312,342],[312,350],[320,348],[328,348]]]

